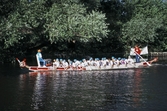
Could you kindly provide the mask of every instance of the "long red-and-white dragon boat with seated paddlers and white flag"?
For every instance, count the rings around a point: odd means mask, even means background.
[[[59,61],[59,60],[54,60],[54,62],[51,61],[51,59],[45,59],[46,61],[46,66],[43,66],[40,61],[38,60],[38,57],[36,55],[36,59],[37,59],[37,66],[29,66],[26,64],[26,59],[23,59],[22,61],[20,61],[18,58],[16,58],[16,60],[19,62],[19,66],[22,69],[28,69],[29,71],[92,71],[92,70],[114,70],[114,69],[131,69],[131,68],[140,68],[140,67],[149,67],[152,65],[153,62],[156,62],[158,60],[158,57],[153,58],[150,61],[146,61],[145,59],[143,59],[143,57],[141,55],[145,55],[148,54],[148,48],[147,46],[142,48],[141,54],[138,55],[142,61],[139,63],[135,63],[134,60],[132,60],[131,56],[135,56],[137,53],[134,51],[134,48],[131,48],[130,50],[130,56],[125,59],[106,59],[104,60],[104,58],[102,58],[101,60],[97,60],[95,58],[95,60],[93,60],[91,58],[91,60],[86,60],[84,59],[82,62],[80,61],[76,61],[74,60],[72,63],[75,64],[71,64],[71,61],[66,62],[65,64],[63,64],[63,61]],[[57,65],[56,62],[59,62]],[[61,64],[60,64],[61,63]]]

